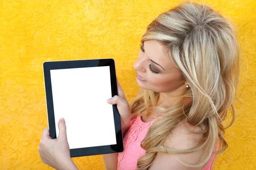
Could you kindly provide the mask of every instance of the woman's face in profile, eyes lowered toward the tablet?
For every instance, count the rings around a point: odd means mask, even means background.
[[[146,90],[170,92],[178,88],[186,88],[184,80],[175,65],[157,40],[147,40],[139,52],[139,59],[134,63],[137,70],[137,82]]]

